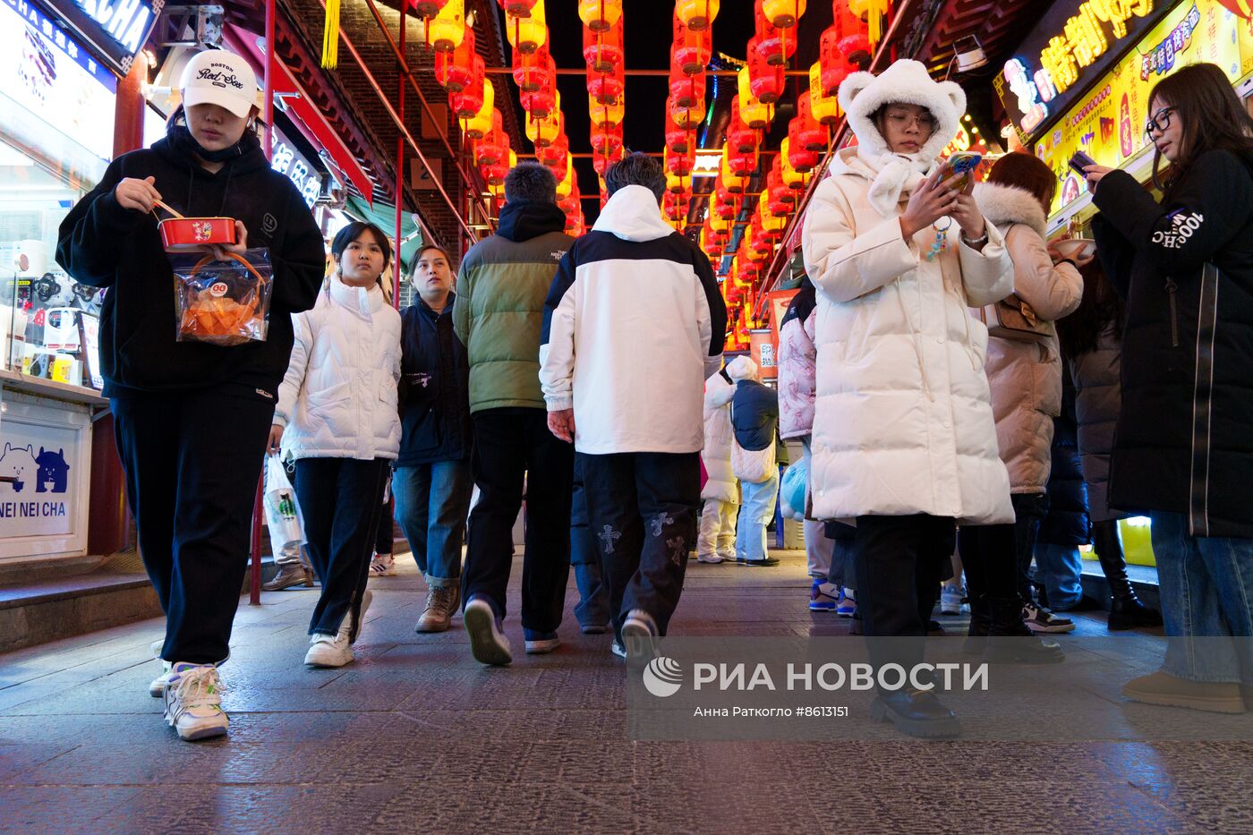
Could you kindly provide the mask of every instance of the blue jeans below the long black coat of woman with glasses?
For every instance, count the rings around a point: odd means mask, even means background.
[[[1253,539],[1193,537],[1180,513],[1149,515],[1170,638],[1162,668],[1192,681],[1253,685]]]

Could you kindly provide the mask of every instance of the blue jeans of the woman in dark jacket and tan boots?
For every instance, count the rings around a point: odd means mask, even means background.
[[[461,582],[461,542],[472,491],[469,460],[396,468],[396,520],[431,588]]]

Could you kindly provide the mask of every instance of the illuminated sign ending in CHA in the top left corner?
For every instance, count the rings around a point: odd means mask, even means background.
[[[6,0],[19,11],[30,0]],[[86,43],[100,61],[118,75],[130,71],[157,25],[165,0],[39,0]]]

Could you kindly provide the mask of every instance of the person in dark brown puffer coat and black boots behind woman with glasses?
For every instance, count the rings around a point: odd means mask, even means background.
[[[1128,514],[1109,507],[1109,458],[1123,404],[1120,369],[1126,305],[1114,292],[1100,263],[1089,262],[1079,272],[1084,277],[1084,300],[1079,310],[1058,322],[1058,336],[1075,386],[1079,454],[1088,484],[1093,545],[1111,597],[1108,623],[1110,631],[1162,626],[1162,614],[1140,602],[1126,577],[1118,520]]]

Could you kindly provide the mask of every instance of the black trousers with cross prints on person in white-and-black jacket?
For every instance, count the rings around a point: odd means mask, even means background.
[[[614,633],[643,609],[665,634],[683,593],[700,507],[699,453],[578,454]]]

